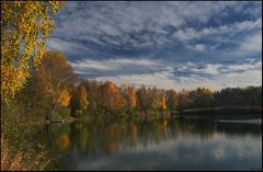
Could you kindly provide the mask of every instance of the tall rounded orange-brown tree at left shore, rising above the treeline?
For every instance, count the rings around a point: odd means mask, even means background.
[[[61,53],[45,53],[39,69],[35,71],[34,84],[41,106],[45,110],[46,119],[50,119],[59,105],[68,105],[69,85],[73,72]]]

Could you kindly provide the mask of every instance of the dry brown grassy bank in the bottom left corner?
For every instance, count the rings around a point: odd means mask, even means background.
[[[52,170],[52,154],[35,139],[42,117],[24,114],[21,108],[1,106],[1,171]]]

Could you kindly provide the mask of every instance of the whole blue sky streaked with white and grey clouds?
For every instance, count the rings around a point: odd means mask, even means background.
[[[80,78],[161,89],[262,85],[260,1],[68,1],[48,50]]]

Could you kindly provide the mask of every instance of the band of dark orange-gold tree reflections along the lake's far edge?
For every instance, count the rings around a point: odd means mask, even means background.
[[[114,153],[119,148],[136,149],[137,145],[158,145],[165,140],[176,140],[179,135],[185,138],[198,136],[213,139],[216,133],[228,135],[261,135],[261,124],[215,123],[209,119],[161,119],[151,122],[112,122],[92,124],[76,122],[53,124],[48,135],[58,150],[69,151],[77,147],[82,153]],[[50,131],[53,131],[50,136]]]

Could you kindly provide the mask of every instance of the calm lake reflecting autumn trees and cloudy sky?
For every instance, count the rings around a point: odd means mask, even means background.
[[[262,119],[39,126],[57,170],[262,170]]]

